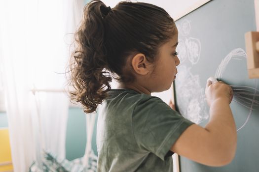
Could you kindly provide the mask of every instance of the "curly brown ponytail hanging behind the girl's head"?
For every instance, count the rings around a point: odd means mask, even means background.
[[[76,48],[70,62],[70,84],[74,91],[70,94],[72,100],[83,105],[85,113],[95,112],[111,90],[103,24],[110,9],[101,0],[87,3],[81,25],[74,34]]]

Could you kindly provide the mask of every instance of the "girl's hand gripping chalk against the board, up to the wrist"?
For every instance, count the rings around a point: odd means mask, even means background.
[[[222,101],[226,100],[229,104],[233,99],[233,90],[231,86],[228,86],[222,81],[218,82],[211,80],[211,78],[207,80],[205,94],[209,106],[217,99],[222,99]]]

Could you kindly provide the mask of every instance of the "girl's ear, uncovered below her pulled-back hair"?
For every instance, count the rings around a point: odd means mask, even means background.
[[[135,55],[131,60],[134,71],[139,75],[147,75],[150,71],[150,62],[142,53]]]

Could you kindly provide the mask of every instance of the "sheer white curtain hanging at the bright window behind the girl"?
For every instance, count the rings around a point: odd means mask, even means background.
[[[62,73],[83,4],[0,1],[0,67],[15,172],[40,165],[43,149],[65,158],[69,98]]]

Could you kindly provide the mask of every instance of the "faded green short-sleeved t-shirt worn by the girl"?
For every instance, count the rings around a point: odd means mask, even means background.
[[[111,89],[98,114],[97,172],[173,172],[170,148],[193,124],[132,89]]]

